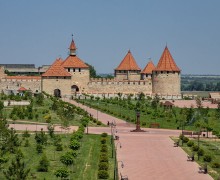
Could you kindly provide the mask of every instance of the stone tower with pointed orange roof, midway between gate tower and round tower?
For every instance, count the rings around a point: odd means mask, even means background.
[[[141,69],[129,50],[124,59],[115,69],[115,78],[117,80],[140,80],[140,72]]]

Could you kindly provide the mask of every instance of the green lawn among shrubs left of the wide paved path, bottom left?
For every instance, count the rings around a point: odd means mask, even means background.
[[[26,167],[31,168],[31,172],[29,174],[29,179],[57,179],[54,175],[56,169],[60,167],[64,167],[64,165],[60,162],[60,156],[65,152],[69,151],[68,144],[70,142],[70,135],[61,135],[62,143],[64,150],[63,151],[55,151],[55,146],[53,145],[53,141],[49,138],[49,143],[44,148],[44,153],[46,154],[48,160],[50,161],[49,172],[37,172],[37,166],[39,164],[39,159],[42,154],[38,154],[36,151],[36,143],[34,140],[34,135],[31,135],[28,139],[30,142],[29,147],[24,147],[24,140],[22,141],[22,145],[20,149],[24,154],[24,161]],[[84,179],[84,180],[95,180],[97,179],[98,174],[98,159],[100,154],[100,135],[84,135],[81,141],[81,148],[79,150],[79,154],[74,161],[74,165],[68,167],[70,171],[69,179]],[[22,137],[20,136],[20,139]],[[110,169],[109,174],[110,178],[113,179],[113,159],[111,158],[111,146],[110,146],[110,138],[108,138],[108,146],[109,146],[109,163]],[[14,158],[15,155],[10,155],[10,160]],[[7,169],[9,162],[4,166]],[[31,176],[32,175],[32,176]],[[4,179],[2,171],[0,171],[0,179]]]

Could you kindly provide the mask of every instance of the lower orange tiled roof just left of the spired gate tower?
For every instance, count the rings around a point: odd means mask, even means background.
[[[68,73],[62,66],[61,64],[63,63],[62,59],[56,59],[55,62],[50,66],[50,68],[42,74],[43,77],[47,76],[59,76],[59,77],[64,77],[64,76],[71,76],[70,73]]]

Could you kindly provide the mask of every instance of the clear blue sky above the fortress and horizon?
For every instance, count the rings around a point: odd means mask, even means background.
[[[113,73],[130,49],[141,68],[165,45],[183,74],[220,74],[219,0],[0,0],[0,63],[77,54],[98,73]]]

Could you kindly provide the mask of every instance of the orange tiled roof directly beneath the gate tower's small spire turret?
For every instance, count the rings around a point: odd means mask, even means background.
[[[68,56],[62,63],[64,68],[89,68],[81,59],[77,56]]]

